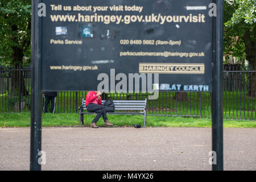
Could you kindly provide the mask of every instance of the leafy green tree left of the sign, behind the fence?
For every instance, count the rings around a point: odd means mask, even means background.
[[[29,64],[31,59],[25,57],[31,55],[31,1],[1,0],[0,22],[0,65]],[[19,75],[17,72],[13,74]],[[19,79],[19,76],[12,76],[12,90],[18,88]],[[22,94],[25,93],[28,92],[23,87]]]

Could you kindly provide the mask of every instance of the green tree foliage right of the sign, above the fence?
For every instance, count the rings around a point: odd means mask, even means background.
[[[256,0],[224,1],[224,53],[246,59],[246,48],[253,48],[251,42],[255,40],[255,5]],[[246,32],[249,38],[245,38]],[[249,63],[254,61],[249,60]]]

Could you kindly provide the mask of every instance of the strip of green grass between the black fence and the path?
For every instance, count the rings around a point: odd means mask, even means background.
[[[85,115],[85,126],[89,126],[95,115]],[[140,124],[143,126],[142,115],[108,115],[109,121],[114,126],[126,127]],[[42,126],[69,126],[78,127],[79,114],[43,114]],[[98,126],[104,126],[103,119],[97,122]],[[211,127],[210,119],[192,117],[162,117],[147,116],[147,127]],[[30,113],[1,113],[0,127],[30,127]],[[237,121],[224,119],[224,127],[255,128],[256,121]]]

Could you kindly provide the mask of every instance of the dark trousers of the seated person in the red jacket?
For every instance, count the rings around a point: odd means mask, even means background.
[[[86,106],[86,109],[90,113],[96,113],[97,114],[96,117],[93,119],[92,123],[97,123],[97,121],[98,121],[98,119],[100,119],[101,115],[102,115],[102,118],[103,118],[104,121],[108,120],[108,118],[106,117],[105,106],[90,103]]]

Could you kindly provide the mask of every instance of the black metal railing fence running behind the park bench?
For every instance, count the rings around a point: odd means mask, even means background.
[[[255,120],[256,71],[232,65],[224,68],[224,118]],[[85,91],[58,92],[55,113],[79,112],[79,106],[86,93]],[[29,112],[30,95],[30,68],[0,69],[0,113]],[[109,93],[108,96],[113,100],[144,100],[148,94]],[[157,100],[147,101],[147,113],[148,115],[210,118],[211,93],[159,92]]]

